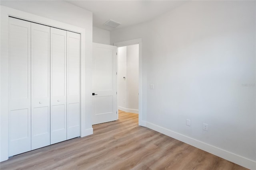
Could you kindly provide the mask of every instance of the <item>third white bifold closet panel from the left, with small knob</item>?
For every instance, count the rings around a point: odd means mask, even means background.
[[[67,139],[66,35],[51,29],[51,144]]]

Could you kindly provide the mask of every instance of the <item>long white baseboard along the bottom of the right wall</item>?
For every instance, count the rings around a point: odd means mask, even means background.
[[[206,152],[209,152],[211,154],[214,154],[216,156],[219,156],[221,158],[224,158],[226,160],[229,160],[230,162],[234,162],[235,164],[238,164],[240,166],[244,166],[245,168],[255,170],[256,169],[256,161],[250,160],[248,158],[244,158],[242,156],[239,156],[237,154],[234,154],[232,152],[228,152],[226,150],[220,149],[218,147],[214,147],[212,145],[209,145],[207,143],[198,141],[196,139],[193,139],[191,137],[187,137],[185,135],[182,135],[180,133],[176,133],[174,131],[171,131],[169,129],[166,129],[164,127],[160,127],[158,125],[154,125],[153,123],[146,122],[146,127],[158,131],[164,135],[167,135],[169,137],[172,137],[174,139],[177,139],[179,141],[182,141],[184,143],[187,143],[188,145],[192,145],[196,148],[202,149]]]

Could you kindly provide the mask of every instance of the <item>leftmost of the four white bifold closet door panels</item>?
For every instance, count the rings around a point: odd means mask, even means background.
[[[30,22],[9,18],[9,156],[31,150]]]

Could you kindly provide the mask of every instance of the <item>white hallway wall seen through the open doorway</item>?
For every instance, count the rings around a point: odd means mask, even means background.
[[[124,79],[124,77],[126,77]],[[139,45],[118,48],[118,109],[138,113]]]

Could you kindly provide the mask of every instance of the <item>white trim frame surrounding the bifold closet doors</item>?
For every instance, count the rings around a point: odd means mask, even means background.
[[[51,20],[20,10],[15,10],[6,6],[1,6],[1,54],[0,54],[0,161],[8,160],[8,149],[9,149],[9,17],[26,20],[30,22],[47,25],[50,27],[56,27],[75,33],[80,33],[80,137],[91,135],[93,133],[92,124],[90,121],[90,110],[89,107],[91,102],[91,83],[90,83],[90,61],[91,61],[91,47],[90,41],[86,41],[86,30],[81,27],[76,27],[60,21]],[[89,30],[90,31],[90,30]],[[90,32],[89,32],[90,33]],[[88,55],[85,54],[87,51]],[[89,72],[86,72],[88,70]],[[88,79],[85,81],[85,79]],[[86,107],[88,106],[88,107]]]

